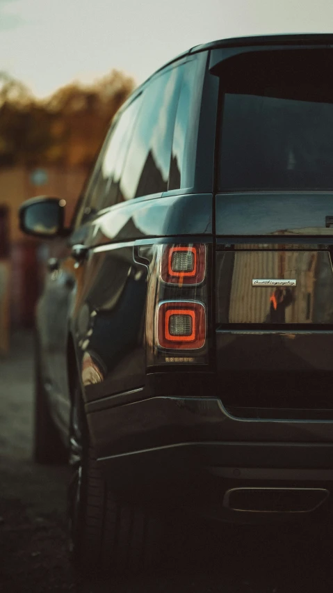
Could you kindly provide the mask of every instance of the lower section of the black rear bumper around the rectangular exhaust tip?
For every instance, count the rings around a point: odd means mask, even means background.
[[[99,463],[111,487],[129,503],[181,508],[222,521],[257,523],[304,520],[314,515],[318,521],[320,516],[325,519],[332,514],[332,457],[330,445],[181,443],[104,457]],[[330,462],[331,468],[321,467]],[[253,491],[258,496],[248,502],[248,493],[252,495]],[[275,491],[279,491],[277,501],[273,498],[270,510],[261,512],[261,503],[266,504],[263,495]],[[234,507],[234,495],[241,492],[243,506]],[[297,494],[293,506],[285,511],[275,507],[291,493]]]

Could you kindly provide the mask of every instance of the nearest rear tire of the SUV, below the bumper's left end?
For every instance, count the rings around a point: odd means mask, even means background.
[[[77,459],[80,447],[73,432],[72,427],[72,459]],[[81,459],[73,464],[68,489],[74,565],[86,576],[126,574],[152,566],[159,558],[159,517],[116,500],[99,470],[95,451],[88,442],[88,429],[80,434]]]

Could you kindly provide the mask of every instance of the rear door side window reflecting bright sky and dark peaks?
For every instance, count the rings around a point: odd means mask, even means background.
[[[143,105],[120,180],[120,200],[168,189],[182,72],[182,65],[167,70],[143,90]]]

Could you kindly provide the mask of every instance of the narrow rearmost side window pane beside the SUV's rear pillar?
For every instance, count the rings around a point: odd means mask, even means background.
[[[198,60],[194,58],[184,65],[184,76],[179,94],[168,189],[191,187],[192,180],[186,178],[186,156],[188,148],[195,143],[193,129],[197,124],[197,93],[201,92],[198,81]]]

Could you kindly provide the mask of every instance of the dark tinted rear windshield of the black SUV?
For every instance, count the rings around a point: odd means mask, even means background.
[[[225,62],[221,191],[333,189],[332,54],[254,52]]]

